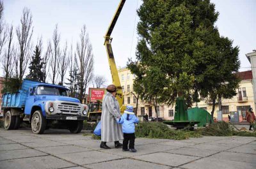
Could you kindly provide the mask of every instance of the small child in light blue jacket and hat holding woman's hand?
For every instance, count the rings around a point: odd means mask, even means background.
[[[124,142],[123,142],[123,151],[136,152],[134,149],[134,140],[135,140],[135,126],[134,123],[138,123],[139,119],[134,115],[133,107],[127,106],[124,114],[119,120],[119,123],[122,124],[122,129],[124,133]],[[129,143],[129,149],[128,149]]]

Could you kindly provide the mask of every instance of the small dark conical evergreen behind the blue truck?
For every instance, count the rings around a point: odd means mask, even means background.
[[[36,80],[38,82],[44,82],[44,71],[43,71],[43,62],[41,59],[41,50],[36,45],[32,61],[29,66],[29,75],[27,76],[30,80]]]

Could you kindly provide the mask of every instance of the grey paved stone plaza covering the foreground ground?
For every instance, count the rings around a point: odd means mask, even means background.
[[[138,152],[100,149],[92,136],[49,129],[0,129],[0,168],[256,168],[255,137],[136,138]]]

